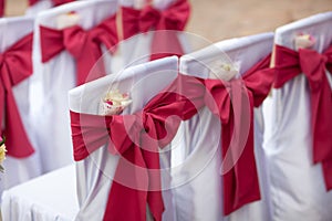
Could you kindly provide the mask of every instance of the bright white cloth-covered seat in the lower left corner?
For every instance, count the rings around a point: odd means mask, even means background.
[[[74,165],[15,186],[2,196],[2,220],[7,221],[72,221],[77,211]]]

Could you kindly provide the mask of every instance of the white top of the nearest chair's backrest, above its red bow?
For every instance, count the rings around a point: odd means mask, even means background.
[[[169,56],[127,67],[117,74],[89,82],[69,92],[70,109],[97,114],[101,98],[108,90],[128,93],[133,103],[128,112],[137,112],[178,74],[178,57]]]

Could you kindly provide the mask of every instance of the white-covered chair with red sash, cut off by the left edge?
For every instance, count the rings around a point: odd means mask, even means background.
[[[1,40],[1,136],[8,140],[8,157],[3,161],[6,173],[1,173],[1,192],[14,185],[19,185],[41,175],[42,166],[40,150],[35,139],[35,125],[32,123],[33,107],[32,81],[32,32],[31,18],[0,19]],[[3,95],[4,77],[9,74],[11,88]],[[8,77],[8,76],[7,76]],[[10,104],[10,91],[13,93],[14,104]],[[4,99],[6,98],[6,99]],[[13,107],[13,106],[14,107]],[[18,113],[15,113],[18,108]],[[1,114],[1,116],[2,116]],[[19,116],[17,116],[18,114]],[[20,126],[22,123],[22,127]]]

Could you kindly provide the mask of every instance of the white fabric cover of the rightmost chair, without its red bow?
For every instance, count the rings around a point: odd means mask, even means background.
[[[328,12],[287,24],[277,29],[274,43],[295,50],[294,36],[311,34],[317,41],[313,49],[322,53],[332,42],[331,23],[332,13]],[[282,88],[272,90],[263,105],[273,221],[332,219],[332,191],[326,192],[321,165],[312,160],[308,87],[300,74]]]

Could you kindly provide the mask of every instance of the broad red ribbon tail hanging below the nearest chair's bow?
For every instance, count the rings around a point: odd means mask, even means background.
[[[103,220],[145,221],[147,189],[146,166],[139,147],[135,146],[120,158]]]

